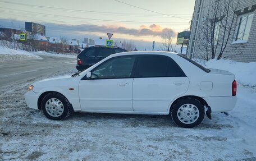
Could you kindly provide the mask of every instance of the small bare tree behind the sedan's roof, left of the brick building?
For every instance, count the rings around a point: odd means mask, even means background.
[[[176,43],[173,44],[173,40],[176,38],[177,34],[173,30],[167,30],[163,32],[162,35],[162,50],[167,52],[175,52]]]

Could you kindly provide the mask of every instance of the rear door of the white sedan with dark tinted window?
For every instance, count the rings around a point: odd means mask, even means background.
[[[188,86],[188,77],[170,57],[140,56],[132,85],[134,111],[167,112],[171,101]]]

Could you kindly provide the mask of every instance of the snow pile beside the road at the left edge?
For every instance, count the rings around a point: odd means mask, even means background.
[[[41,58],[25,50],[15,50],[7,47],[0,47],[0,62],[20,61],[26,59]]]

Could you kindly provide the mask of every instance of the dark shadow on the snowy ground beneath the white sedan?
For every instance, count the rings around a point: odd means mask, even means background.
[[[214,118],[213,118],[214,119]],[[101,124],[104,126],[119,125],[122,127],[158,127],[170,128],[178,127],[170,115],[145,115],[145,114],[108,114],[108,113],[74,113],[66,119],[68,122],[85,122],[88,125],[94,126]],[[211,121],[206,116],[204,121],[195,129],[215,129],[233,128],[231,125],[220,124],[221,121]]]

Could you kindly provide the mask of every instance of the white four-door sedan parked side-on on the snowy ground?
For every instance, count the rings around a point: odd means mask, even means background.
[[[171,52],[113,54],[81,73],[38,81],[25,94],[49,119],[72,112],[170,114],[181,127],[236,104],[234,74]]]

